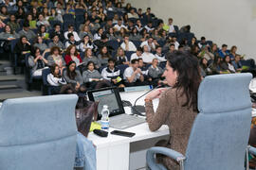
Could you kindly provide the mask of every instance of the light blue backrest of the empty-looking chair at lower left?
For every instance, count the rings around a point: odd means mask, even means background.
[[[75,94],[6,100],[0,109],[0,169],[73,169],[77,100]]]

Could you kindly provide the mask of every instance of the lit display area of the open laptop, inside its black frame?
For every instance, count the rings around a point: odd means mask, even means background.
[[[107,90],[100,90],[96,92],[92,92],[91,95],[93,96],[94,101],[99,101],[98,111],[101,115],[101,110],[104,105],[108,106],[110,114],[119,114],[123,108],[119,105],[119,96],[117,96],[119,92],[117,89],[107,89]],[[123,113],[123,112],[121,112]]]

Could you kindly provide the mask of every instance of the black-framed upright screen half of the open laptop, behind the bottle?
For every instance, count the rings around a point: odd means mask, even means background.
[[[118,115],[124,113],[122,102],[119,95],[119,90],[116,87],[98,89],[93,91],[88,91],[88,98],[90,101],[99,101],[98,112],[101,117],[101,110],[104,105],[108,106],[109,116]]]

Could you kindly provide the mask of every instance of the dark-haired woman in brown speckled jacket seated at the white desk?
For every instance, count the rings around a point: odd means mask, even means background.
[[[156,145],[172,148],[185,154],[193,120],[197,110],[197,91],[201,82],[198,60],[185,51],[175,51],[167,55],[166,70],[163,74],[172,88],[160,88],[145,97],[146,117],[150,130],[155,131],[167,124],[170,129],[169,140]],[[155,98],[159,98],[156,111]],[[171,158],[157,155],[157,160],[168,169],[179,169]]]

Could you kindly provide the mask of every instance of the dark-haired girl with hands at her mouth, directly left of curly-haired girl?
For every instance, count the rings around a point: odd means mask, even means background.
[[[39,48],[32,50],[31,56],[28,57],[28,65],[31,67],[32,76],[42,76],[43,70],[48,68],[45,54],[46,52],[41,55]]]

